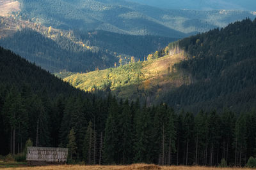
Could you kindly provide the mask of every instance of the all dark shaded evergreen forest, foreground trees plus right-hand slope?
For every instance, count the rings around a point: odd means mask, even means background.
[[[216,100],[235,111],[216,103],[207,111],[175,111],[86,93],[0,48],[0,154],[20,153],[31,139],[34,146],[67,147],[69,161],[86,164],[218,166],[225,159],[244,166],[256,156],[255,27],[246,19],[179,41],[188,56],[176,67],[195,83],[170,101]]]

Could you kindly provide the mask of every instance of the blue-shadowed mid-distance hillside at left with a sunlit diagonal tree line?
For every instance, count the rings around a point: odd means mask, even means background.
[[[175,38],[132,36],[106,31],[65,31],[0,17],[0,45],[48,71],[88,72],[143,60]],[[24,27],[24,28],[22,28]]]

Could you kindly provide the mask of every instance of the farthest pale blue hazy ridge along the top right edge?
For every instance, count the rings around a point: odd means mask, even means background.
[[[127,0],[158,8],[188,10],[256,10],[255,0]]]

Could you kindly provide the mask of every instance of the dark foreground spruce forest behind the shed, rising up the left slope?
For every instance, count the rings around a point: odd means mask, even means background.
[[[100,98],[3,48],[0,58],[1,155],[24,159],[17,153],[29,138],[33,146],[67,147],[68,162],[86,164],[218,166],[225,159],[244,166],[255,155],[255,111],[194,116],[166,104]]]

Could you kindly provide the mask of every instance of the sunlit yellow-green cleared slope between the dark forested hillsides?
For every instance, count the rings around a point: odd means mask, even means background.
[[[157,97],[164,90],[189,83],[188,76],[177,73],[173,67],[180,60],[184,60],[183,52],[101,71],[77,73],[64,81],[82,90],[111,90],[118,97],[129,99]]]

